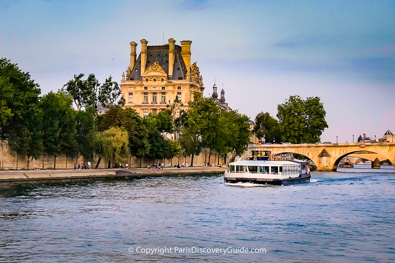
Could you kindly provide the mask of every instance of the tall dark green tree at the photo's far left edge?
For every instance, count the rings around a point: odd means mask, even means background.
[[[2,109],[1,138],[9,139],[12,150],[27,154],[28,159],[41,156],[43,147],[40,140],[42,113],[39,108],[39,84],[29,73],[22,72],[17,64],[6,58],[0,59]],[[12,88],[11,88],[12,87]]]

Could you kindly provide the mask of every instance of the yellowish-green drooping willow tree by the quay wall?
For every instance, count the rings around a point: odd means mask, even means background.
[[[98,154],[108,159],[108,168],[111,168],[112,161],[115,163],[126,161],[129,138],[125,130],[111,127],[103,132],[96,132],[95,139]]]

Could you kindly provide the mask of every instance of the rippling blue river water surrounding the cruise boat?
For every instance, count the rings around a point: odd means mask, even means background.
[[[1,183],[0,262],[395,261],[383,168],[286,187],[221,174]]]

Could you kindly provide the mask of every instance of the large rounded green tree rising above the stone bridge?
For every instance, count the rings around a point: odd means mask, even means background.
[[[277,106],[277,118],[283,142],[316,143],[328,124],[326,112],[318,97],[303,100],[300,96],[290,96]]]

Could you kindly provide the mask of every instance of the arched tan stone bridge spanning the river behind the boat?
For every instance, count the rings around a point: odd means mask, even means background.
[[[275,144],[257,145],[254,148],[250,148],[250,150],[252,149],[270,150],[272,154],[284,152],[299,153],[309,157],[316,164],[319,171],[336,171],[340,160],[353,153],[358,155],[360,153],[375,153],[380,161],[388,159],[392,165],[395,165],[395,143]]]

